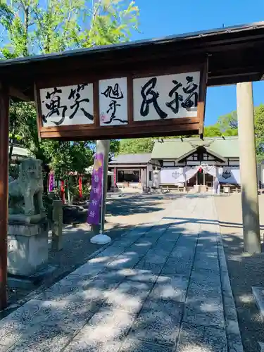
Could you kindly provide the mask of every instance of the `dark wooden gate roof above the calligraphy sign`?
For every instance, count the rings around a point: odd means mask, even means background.
[[[201,63],[208,58],[208,86],[260,80],[264,73],[264,22],[178,34],[62,54],[0,61],[1,80],[13,94],[34,99],[34,81],[133,73],[147,68]],[[58,84],[56,84],[58,85]],[[19,95],[19,94],[17,94]]]

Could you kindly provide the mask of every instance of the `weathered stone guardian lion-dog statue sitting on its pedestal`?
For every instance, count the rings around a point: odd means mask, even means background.
[[[44,213],[42,161],[28,158],[19,165],[18,179],[8,184],[9,213]]]

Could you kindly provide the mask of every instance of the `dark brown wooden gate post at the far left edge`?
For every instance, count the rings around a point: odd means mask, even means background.
[[[0,310],[7,306],[7,221],[8,221],[9,96],[0,86]]]

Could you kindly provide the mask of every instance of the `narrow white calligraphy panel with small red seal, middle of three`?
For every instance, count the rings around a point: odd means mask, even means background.
[[[100,125],[127,125],[127,78],[99,81]]]

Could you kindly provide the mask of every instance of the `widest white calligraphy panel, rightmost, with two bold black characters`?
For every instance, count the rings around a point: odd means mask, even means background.
[[[197,116],[200,72],[133,80],[134,121]]]

